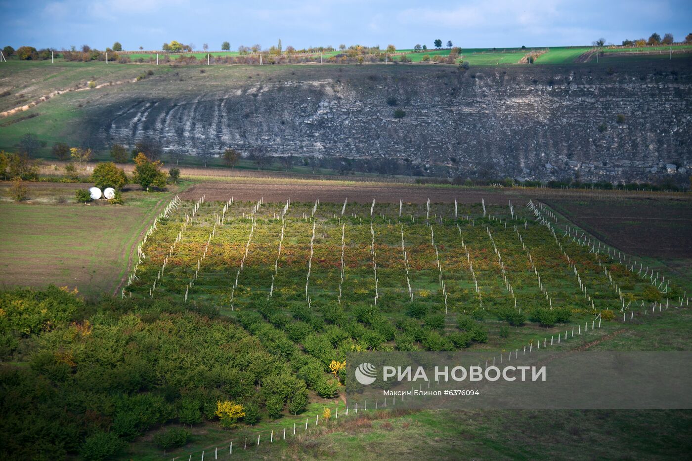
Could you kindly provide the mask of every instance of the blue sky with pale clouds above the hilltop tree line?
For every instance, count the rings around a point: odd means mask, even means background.
[[[365,44],[463,48],[590,44],[692,33],[692,1],[677,0],[0,0],[0,46],[160,49],[176,39],[218,50],[282,39],[284,48]]]

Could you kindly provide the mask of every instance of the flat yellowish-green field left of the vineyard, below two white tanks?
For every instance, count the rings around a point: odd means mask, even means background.
[[[5,184],[3,184],[5,186]],[[113,293],[147,223],[174,190],[126,192],[125,206],[74,204],[71,184],[60,190],[30,188],[37,204],[0,203],[0,267],[3,287],[77,287],[85,296]],[[2,187],[3,193],[6,187]],[[63,204],[46,204],[62,197]]]

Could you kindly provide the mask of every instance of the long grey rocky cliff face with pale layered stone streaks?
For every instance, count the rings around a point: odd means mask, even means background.
[[[188,154],[384,157],[440,176],[686,181],[691,173],[689,60],[290,69],[119,99],[95,114],[96,136],[126,145],[158,138]],[[397,109],[405,115],[396,118]]]

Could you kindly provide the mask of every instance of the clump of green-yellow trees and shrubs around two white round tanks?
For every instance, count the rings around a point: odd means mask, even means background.
[[[125,170],[118,168],[113,162],[99,163],[93,169],[91,181],[99,189],[113,188],[116,190],[115,196],[109,199],[111,204],[122,204],[122,188],[128,183],[139,184],[143,190],[161,190],[165,188],[168,181],[176,183],[180,177],[180,170],[172,168],[168,174],[163,172],[161,161],[152,161],[145,154],[138,154],[135,159],[134,174],[131,178],[127,177]],[[78,203],[86,204],[91,201],[89,190],[78,189],[75,192],[75,199]]]

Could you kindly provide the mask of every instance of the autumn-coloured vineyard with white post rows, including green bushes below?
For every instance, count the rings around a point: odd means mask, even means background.
[[[353,350],[544,346],[567,325],[581,334],[673,307],[683,300],[677,291],[534,202],[202,197],[175,199],[156,221],[121,296],[237,318],[332,397],[330,365]]]

